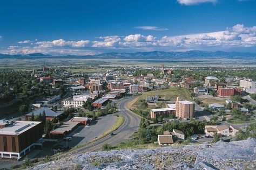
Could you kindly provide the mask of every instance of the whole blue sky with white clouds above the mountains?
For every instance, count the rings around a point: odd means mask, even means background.
[[[194,49],[256,52],[256,1],[0,1],[0,53]]]

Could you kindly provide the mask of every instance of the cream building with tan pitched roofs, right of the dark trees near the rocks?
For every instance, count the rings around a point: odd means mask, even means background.
[[[222,134],[227,137],[235,137],[235,133],[239,131],[238,128],[235,128],[233,125],[227,126],[224,124],[220,125],[206,125],[205,126],[205,135],[213,136],[216,132],[218,134]]]

